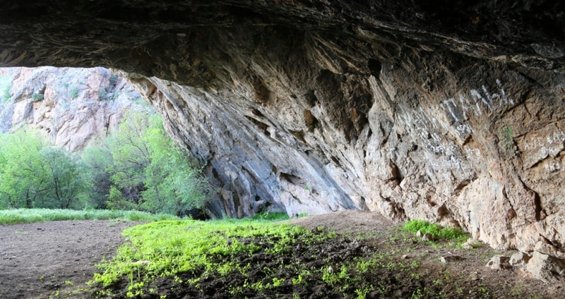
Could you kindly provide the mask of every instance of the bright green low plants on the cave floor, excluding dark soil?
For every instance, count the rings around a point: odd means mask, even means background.
[[[298,240],[313,243],[336,236],[335,233],[312,233],[302,226],[273,223],[286,218],[282,214],[268,213],[254,219],[169,220],[127,228],[123,235],[129,242],[119,248],[112,261],[98,265],[103,273],[95,274],[91,283],[107,288],[125,280],[126,296],[150,292],[148,286],[159,277],[198,286],[200,279],[208,276],[223,277],[234,272],[246,276],[251,264],[237,262],[242,252],[264,253],[276,259],[277,255],[292,251]],[[263,246],[254,241],[259,239]],[[194,276],[183,281],[181,277],[186,277],[187,273]],[[299,277],[295,277],[296,283],[302,279]],[[282,282],[268,277],[244,287],[261,291],[280,286]],[[234,295],[240,288],[233,289]]]

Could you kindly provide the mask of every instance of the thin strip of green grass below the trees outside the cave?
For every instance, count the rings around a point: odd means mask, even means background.
[[[3,209],[0,210],[0,225],[26,224],[57,220],[123,219],[126,221],[158,221],[178,219],[166,214],[150,214],[139,211],[110,211],[106,209]]]

